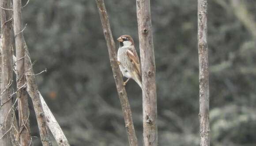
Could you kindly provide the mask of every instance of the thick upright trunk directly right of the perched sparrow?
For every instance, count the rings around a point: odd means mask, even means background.
[[[146,94],[143,94],[143,140],[145,146],[157,146],[157,96],[150,0],[136,0],[136,4],[142,84]]]

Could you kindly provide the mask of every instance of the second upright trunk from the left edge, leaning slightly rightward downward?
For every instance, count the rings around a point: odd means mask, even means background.
[[[27,101],[27,93],[24,84],[26,84],[26,78],[24,75],[24,38],[22,28],[22,14],[21,14],[21,0],[13,0],[13,23],[15,34],[15,46],[16,46],[16,81],[17,81],[17,99],[19,109],[19,136],[20,144],[22,146],[28,146],[30,144],[30,123],[29,123],[29,108]]]

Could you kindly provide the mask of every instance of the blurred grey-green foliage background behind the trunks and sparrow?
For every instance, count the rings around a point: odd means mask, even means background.
[[[208,1],[211,146],[255,146],[256,1]],[[139,53],[136,0],[105,4],[113,37],[131,35]],[[198,146],[197,1],[151,0],[151,16],[159,146]],[[95,1],[31,0],[23,22],[35,73],[47,68],[39,90],[71,145],[128,146]],[[133,80],[126,89],[142,145],[141,89]]]

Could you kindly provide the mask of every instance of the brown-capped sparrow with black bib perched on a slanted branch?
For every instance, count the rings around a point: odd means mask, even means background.
[[[134,47],[134,41],[131,36],[123,35],[118,37],[120,47],[117,51],[117,63],[124,77],[128,79],[124,82],[124,86],[128,80],[133,79],[142,88],[141,71],[139,57]]]

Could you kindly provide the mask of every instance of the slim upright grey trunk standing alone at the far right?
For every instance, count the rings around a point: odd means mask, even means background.
[[[200,85],[200,146],[210,146],[207,0],[198,0],[198,54]]]

